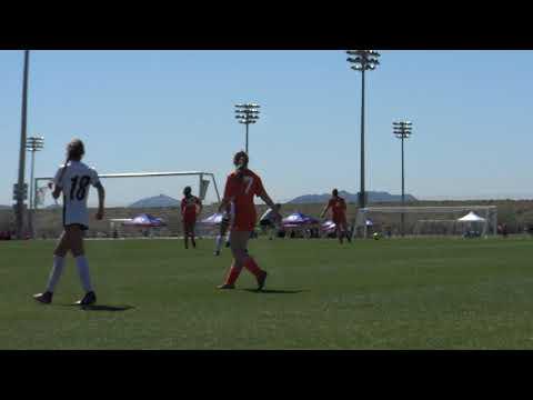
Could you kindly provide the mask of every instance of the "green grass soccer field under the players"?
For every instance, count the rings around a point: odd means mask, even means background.
[[[73,260],[36,303],[54,242],[0,242],[0,349],[532,349],[527,239],[255,240],[264,292],[213,241],[88,241],[98,307]]]

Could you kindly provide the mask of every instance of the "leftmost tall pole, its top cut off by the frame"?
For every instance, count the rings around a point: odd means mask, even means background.
[[[22,110],[21,110],[21,128],[20,128],[20,152],[19,152],[19,180],[14,190],[17,199],[16,219],[17,219],[17,238],[23,239],[24,229],[24,170],[26,170],[26,127],[28,120],[28,76],[30,69],[30,50],[24,50],[24,70],[22,78]]]

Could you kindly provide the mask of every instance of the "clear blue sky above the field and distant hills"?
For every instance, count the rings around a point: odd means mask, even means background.
[[[532,51],[382,51],[368,76],[366,188],[429,198],[533,198]],[[0,204],[11,204],[22,51],[0,51]],[[33,51],[28,133],[52,174],[72,137],[100,173],[207,170],[219,186],[244,146],[233,104],[254,101],[251,168],[275,200],[359,190],[360,74],[342,51]],[[28,158],[29,160],[29,158]],[[29,176],[29,163],[28,163]],[[111,203],[180,197],[195,180],[107,181]],[[208,200],[212,200],[210,190]]]

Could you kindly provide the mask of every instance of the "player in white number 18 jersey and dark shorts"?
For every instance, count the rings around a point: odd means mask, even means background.
[[[53,198],[58,199],[61,192],[63,193],[63,232],[53,252],[53,268],[47,290],[33,296],[37,301],[46,304],[52,302],[53,291],[63,271],[64,257],[69,251],[76,259],[81,284],[86,291],[86,296],[77,304],[89,306],[97,301],[91,286],[89,263],[83,250],[83,232],[89,229],[89,211],[87,209],[89,186],[93,186],[98,190],[97,220],[103,218],[105,192],[97,171],[81,162],[83,154],[83,142],[79,139],[72,140],[67,146],[67,161],[53,179]]]

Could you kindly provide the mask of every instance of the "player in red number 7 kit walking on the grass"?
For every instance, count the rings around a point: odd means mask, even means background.
[[[260,269],[255,260],[248,253],[248,240],[258,219],[253,198],[255,196],[261,198],[274,210],[272,217],[276,220],[281,219],[274,202],[263,188],[261,178],[248,169],[248,154],[244,151],[240,151],[233,157],[233,164],[237,169],[228,177],[224,198],[219,208],[219,212],[221,212],[228,208],[230,202],[233,202],[234,207],[230,241],[233,262],[224,284],[219,289],[234,289],[243,267],[255,276],[258,290],[264,287],[266,272]]]

